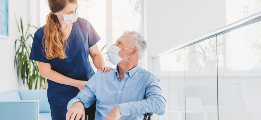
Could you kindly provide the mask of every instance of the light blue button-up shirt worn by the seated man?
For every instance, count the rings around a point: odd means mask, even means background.
[[[123,79],[119,79],[118,66],[105,74],[95,73],[67,109],[79,101],[88,108],[95,100],[95,120],[104,120],[116,105],[120,108],[120,120],[142,120],[145,113],[162,115],[166,107],[158,76],[138,64],[125,72]]]

